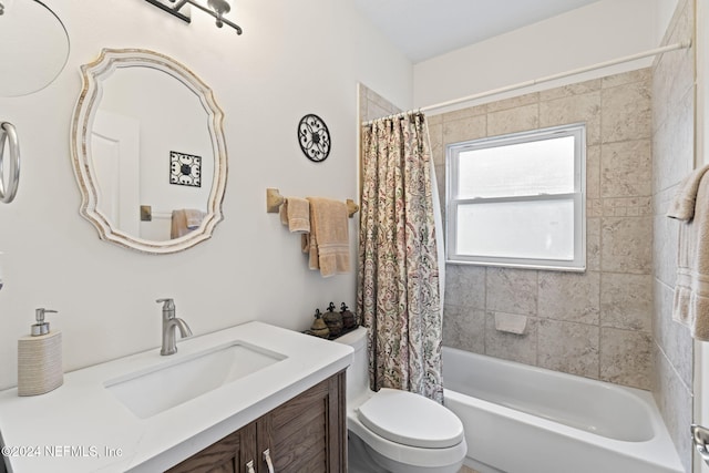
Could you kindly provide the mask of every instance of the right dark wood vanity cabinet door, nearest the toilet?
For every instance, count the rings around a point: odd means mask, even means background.
[[[259,472],[270,452],[278,473],[338,473],[347,470],[345,372],[336,374],[258,420]]]

